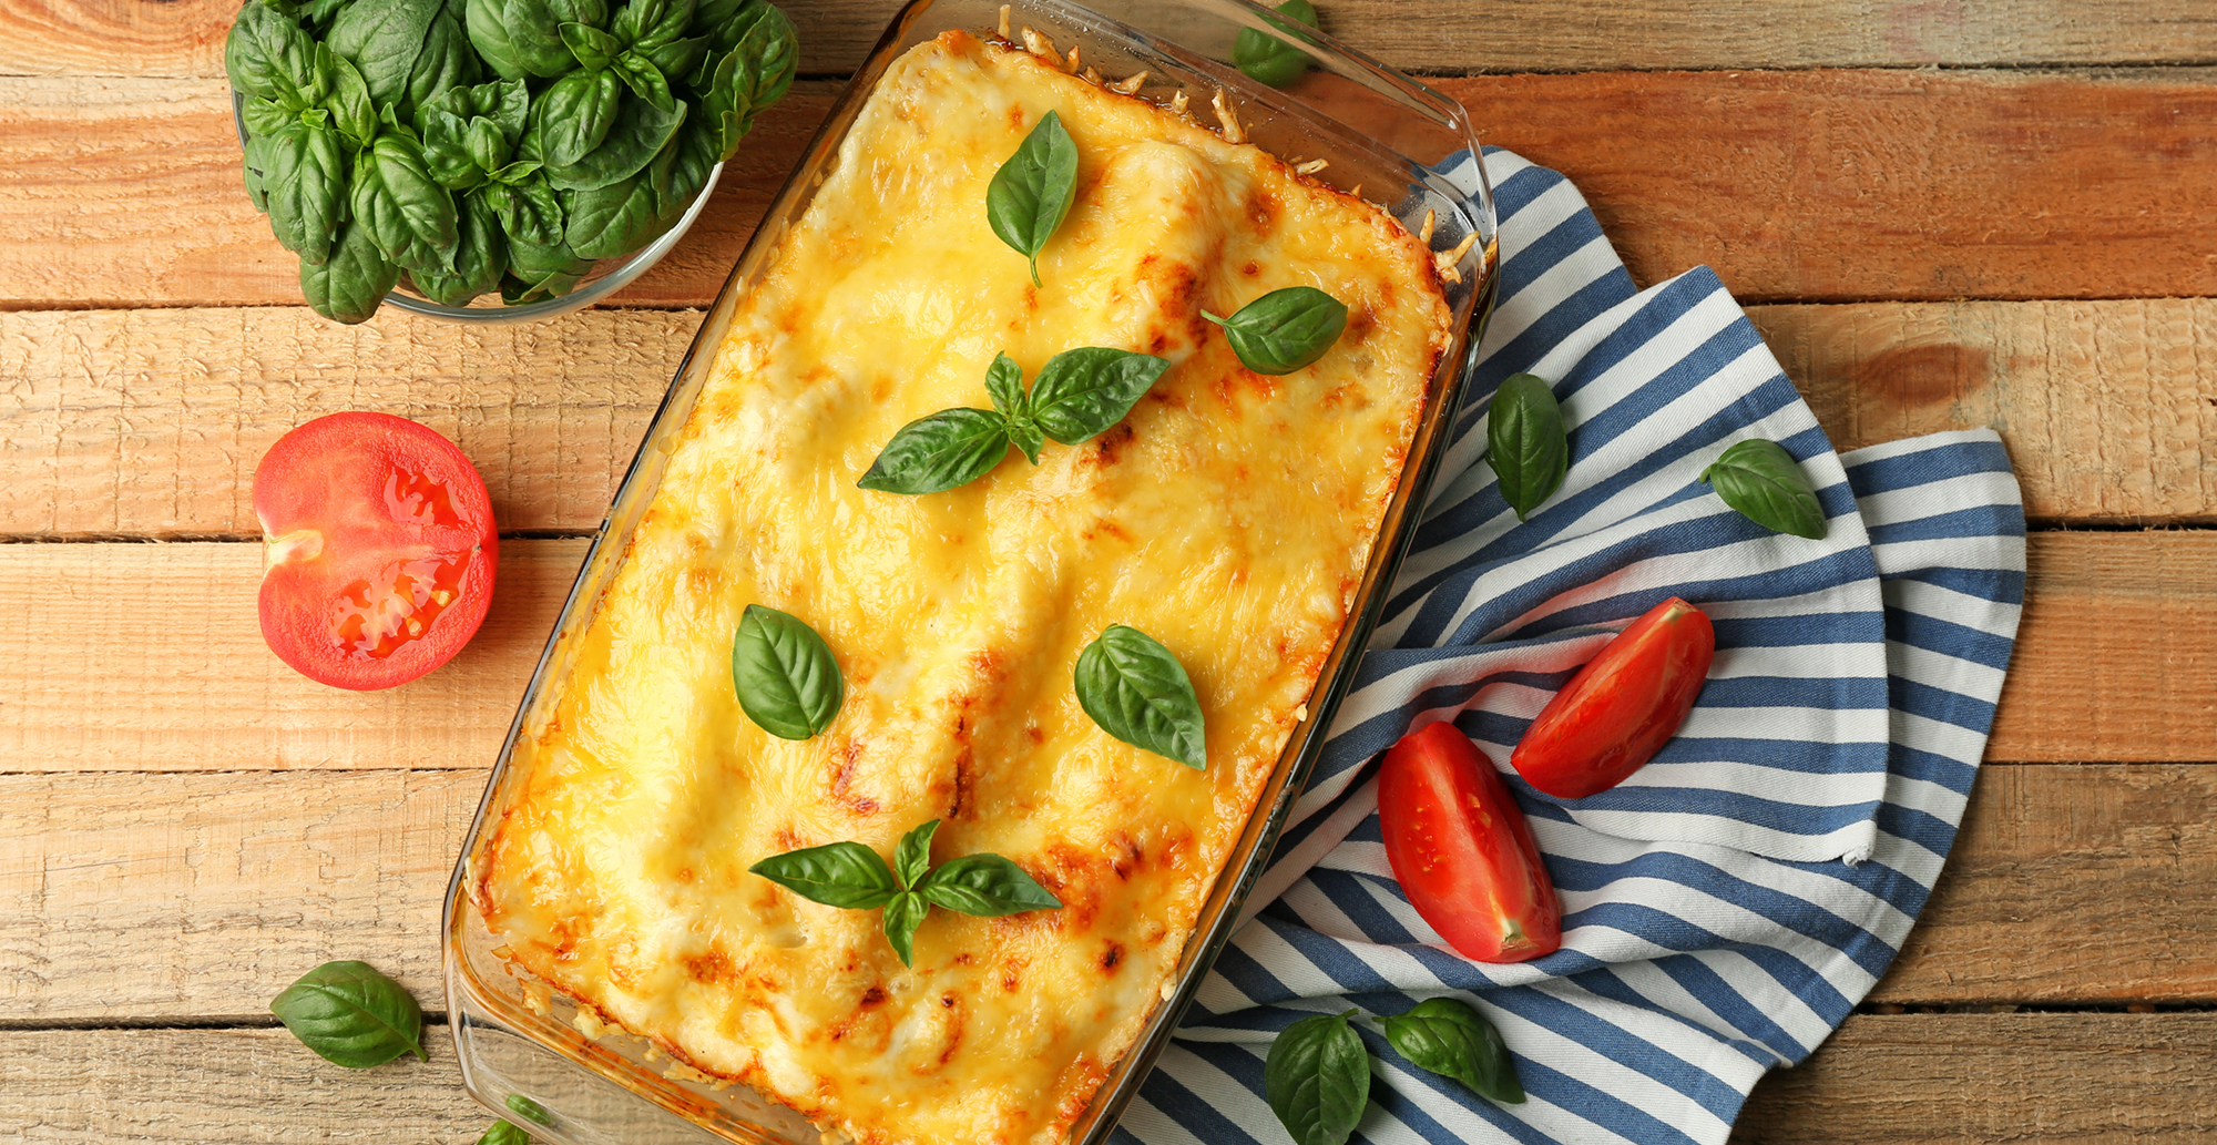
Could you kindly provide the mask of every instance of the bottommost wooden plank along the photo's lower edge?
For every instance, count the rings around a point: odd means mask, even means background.
[[[27,1145],[461,1145],[492,1114],[430,1063],[341,1070],[284,1030],[0,1032],[0,1136]],[[1858,1014],[1765,1076],[1736,1145],[2197,1145],[2213,1014]],[[282,1096],[282,1098],[279,1098]],[[368,1114],[368,1116],[366,1116]]]

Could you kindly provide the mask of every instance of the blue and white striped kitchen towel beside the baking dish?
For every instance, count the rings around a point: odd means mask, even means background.
[[[1423,528],[1264,883],[1117,1141],[1281,1143],[1264,1058],[1286,1025],[1457,996],[1530,1098],[1412,1067],[1370,1023],[1375,1145],[1723,1143],[1765,1070],[1878,983],[1962,821],[2024,595],[2024,510],[1993,433],[1833,453],[1707,268],[1638,291],[1563,175],[1488,151],[1501,300]],[[1477,164],[1454,169],[1474,186]],[[1494,386],[1554,384],[1561,493],[1519,524],[1481,462]],[[1727,510],[1700,470],[1771,437],[1820,486],[1822,541]],[[1508,768],[1547,697],[1665,597],[1716,619],[1678,739],[1625,786],[1550,799]],[[1383,748],[1452,719],[1516,792],[1563,950],[1457,956],[1379,841]]]

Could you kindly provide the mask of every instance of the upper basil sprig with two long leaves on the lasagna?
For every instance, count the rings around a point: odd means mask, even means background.
[[[1075,446],[1122,422],[1166,368],[1166,357],[1080,346],[1049,357],[1024,393],[1015,359],[993,355],[984,371],[991,411],[956,406],[900,426],[856,484],[878,493],[944,493],[993,473],[1009,446],[1040,464],[1049,437]]]

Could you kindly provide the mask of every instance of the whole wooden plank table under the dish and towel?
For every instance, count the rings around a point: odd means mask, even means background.
[[[1570,173],[1641,282],[1707,262],[1840,448],[1995,426],[2033,519],[1984,777],[1900,963],[1758,1143],[2217,1134],[2217,9],[2208,0],[1324,0]],[[889,0],[791,2],[803,82],[601,308],[299,306],[239,186],[237,0],[0,0],[0,1141],[468,1143],[439,896],[510,706],[698,308]],[[2184,67],[2182,67],[2184,64]],[[454,437],[501,588],[446,670],[295,677],[262,450]],[[268,999],[366,959],[435,1058],[348,1072]]]

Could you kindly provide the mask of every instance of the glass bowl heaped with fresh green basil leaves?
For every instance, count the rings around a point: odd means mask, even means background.
[[[246,193],[324,317],[583,308],[692,226],[794,80],[767,0],[246,0]]]

